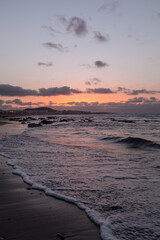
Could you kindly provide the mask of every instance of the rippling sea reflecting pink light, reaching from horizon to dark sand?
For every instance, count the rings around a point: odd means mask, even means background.
[[[160,115],[52,121],[0,139],[13,173],[84,210],[103,240],[160,239]]]

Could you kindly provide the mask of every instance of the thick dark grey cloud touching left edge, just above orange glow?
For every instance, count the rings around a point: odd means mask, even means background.
[[[17,86],[11,86],[9,84],[0,84],[1,96],[37,96],[36,90],[23,89]]]

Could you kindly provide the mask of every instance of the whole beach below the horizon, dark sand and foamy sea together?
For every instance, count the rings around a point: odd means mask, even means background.
[[[0,240],[159,239],[159,115],[41,117],[3,119]]]

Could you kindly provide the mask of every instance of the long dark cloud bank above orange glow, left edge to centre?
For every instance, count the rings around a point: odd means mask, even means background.
[[[9,84],[0,84],[1,96],[58,96],[58,95],[71,95],[82,93],[78,89],[73,89],[67,86],[54,87],[54,88],[40,88],[37,90],[23,89],[21,87],[11,86]]]

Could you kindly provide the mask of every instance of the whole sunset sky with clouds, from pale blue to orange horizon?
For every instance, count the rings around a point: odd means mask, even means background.
[[[160,113],[160,0],[0,0],[0,109]]]

